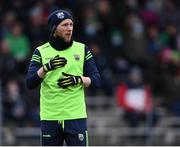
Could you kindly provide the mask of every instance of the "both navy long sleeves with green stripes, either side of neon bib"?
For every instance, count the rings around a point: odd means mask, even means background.
[[[96,67],[92,53],[90,52],[87,46],[85,46],[85,60],[84,61],[85,62],[84,62],[84,68],[83,68],[83,76],[88,76],[91,79],[90,86],[99,87],[100,74]],[[32,55],[32,59],[29,65],[27,79],[26,79],[26,84],[29,89],[36,88],[43,81],[43,79],[37,75],[37,71],[42,66],[43,65],[42,65],[42,60],[41,60],[41,54],[38,49],[35,49]]]

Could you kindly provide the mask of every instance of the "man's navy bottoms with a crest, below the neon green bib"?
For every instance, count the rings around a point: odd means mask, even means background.
[[[64,121],[41,121],[42,146],[87,146],[86,118]]]

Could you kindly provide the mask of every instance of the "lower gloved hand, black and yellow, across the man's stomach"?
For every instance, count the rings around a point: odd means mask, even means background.
[[[59,79],[57,85],[61,88],[67,88],[69,86],[82,84],[82,78],[80,76],[74,76],[67,73],[62,73],[64,78]]]

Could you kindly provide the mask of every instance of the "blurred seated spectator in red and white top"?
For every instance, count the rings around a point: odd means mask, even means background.
[[[149,125],[156,123],[151,89],[144,83],[142,76],[140,68],[131,68],[128,79],[120,83],[116,91],[118,106],[124,110],[124,118],[131,127],[146,121],[150,114],[153,114],[153,120],[148,122]]]

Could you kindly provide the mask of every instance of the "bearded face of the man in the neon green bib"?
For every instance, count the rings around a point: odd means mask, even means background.
[[[55,37],[62,38],[65,42],[70,42],[73,32],[73,22],[71,19],[63,20],[55,30]]]

